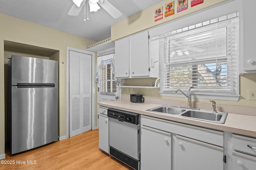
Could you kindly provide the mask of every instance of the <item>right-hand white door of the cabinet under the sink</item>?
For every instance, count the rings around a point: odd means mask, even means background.
[[[177,170],[223,170],[223,148],[176,136]]]

